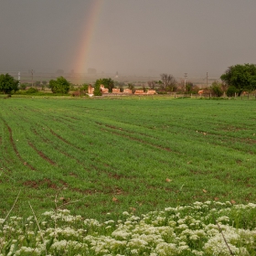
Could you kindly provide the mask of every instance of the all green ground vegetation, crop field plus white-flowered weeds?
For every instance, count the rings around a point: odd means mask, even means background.
[[[253,255],[254,100],[0,105],[3,255]]]

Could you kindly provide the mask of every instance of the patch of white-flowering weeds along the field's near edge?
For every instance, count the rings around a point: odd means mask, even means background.
[[[256,204],[206,201],[99,222],[52,210],[0,219],[0,255],[256,255]]]

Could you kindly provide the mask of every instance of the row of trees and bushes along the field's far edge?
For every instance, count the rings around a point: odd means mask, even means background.
[[[156,90],[158,93],[168,93],[178,90],[178,83],[175,77],[171,74],[163,73],[160,75],[161,80],[150,80],[147,82],[147,86],[151,90]],[[243,91],[251,92],[256,90],[256,65],[255,64],[244,64],[244,65],[234,65],[230,66],[221,76],[219,81],[212,83],[210,90],[216,96],[221,96],[225,91],[227,96],[231,97],[235,94],[240,95]],[[35,82],[38,86],[41,84],[40,81]],[[133,92],[135,91],[135,86],[133,83],[128,83],[126,85],[124,82],[114,81],[112,79],[99,79],[94,83],[94,95],[101,95],[101,84],[105,88],[108,88],[112,92],[113,88],[120,88],[123,91],[124,86],[128,86]],[[47,85],[47,81],[42,81],[42,88]],[[83,84],[80,86],[80,91],[87,91],[89,84]],[[64,77],[60,76],[56,80],[49,80],[48,88],[51,89],[53,93],[67,94],[70,89],[72,89],[72,84],[66,80]],[[146,91],[145,85],[143,85],[144,91]],[[26,85],[19,85],[19,81],[15,80],[8,73],[0,75],[0,92],[4,94],[16,93],[19,90],[26,90]],[[36,92],[36,88],[30,88],[28,91]],[[187,82],[184,86],[184,92],[192,93],[195,91],[195,85],[192,82]]]

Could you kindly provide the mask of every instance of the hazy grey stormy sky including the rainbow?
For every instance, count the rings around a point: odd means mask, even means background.
[[[219,77],[256,63],[255,0],[2,0],[0,72]]]

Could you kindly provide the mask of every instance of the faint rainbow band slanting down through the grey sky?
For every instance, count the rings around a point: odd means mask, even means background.
[[[75,71],[77,73],[85,73],[87,68],[87,60],[93,40],[93,35],[97,26],[97,20],[100,18],[101,9],[104,0],[92,0],[91,7],[88,10],[89,16],[85,20],[84,34],[81,38],[78,58],[75,63]]]

